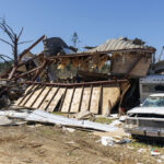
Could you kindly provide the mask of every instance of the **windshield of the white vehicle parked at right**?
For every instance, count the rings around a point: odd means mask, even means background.
[[[143,107],[164,107],[164,97],[150,96],[143,102]]]

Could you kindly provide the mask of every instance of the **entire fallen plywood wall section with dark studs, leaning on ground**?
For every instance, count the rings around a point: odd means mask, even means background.
[[[63,87],[34,84],[26,89],[15,105],[47,112],[79,113],[89,110],[92,114],[106,115],[116,105],[119,97],[118,85]]]

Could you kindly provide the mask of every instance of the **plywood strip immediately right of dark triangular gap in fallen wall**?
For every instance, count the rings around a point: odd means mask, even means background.
[[[65,97],[62,108],[61,108],[62,113],[69,112],[69,106],[71,103],[72,94],[73,94],[73,89],[67,89],[66,97]]]

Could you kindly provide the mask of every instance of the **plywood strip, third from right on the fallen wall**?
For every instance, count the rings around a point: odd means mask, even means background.
[[[81,104],[81,112],[87,110],[89,103],[90,103],[90,95],[91,95],[91,87],[84,87],[82,104]]]

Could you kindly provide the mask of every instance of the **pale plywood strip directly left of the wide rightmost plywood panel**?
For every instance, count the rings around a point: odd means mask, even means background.
[[[93,87],[91,106],[90,106],[90,112],[92,114],[98,114],[99,94],[101,94],[101,86]]]

